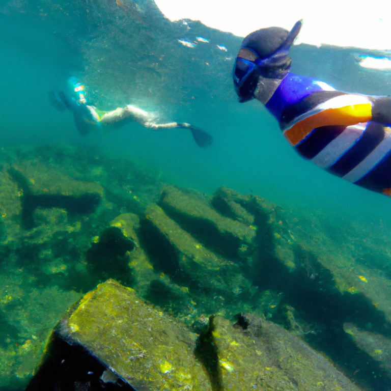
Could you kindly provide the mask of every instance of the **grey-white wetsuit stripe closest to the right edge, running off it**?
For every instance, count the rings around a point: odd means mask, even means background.
[[[384,128],[383,141],[364,160],[358,163],[353,170],[342,178],[349,182],[357,182],[376,167],[389,151],[391,151],[391,131],[390,128]]]

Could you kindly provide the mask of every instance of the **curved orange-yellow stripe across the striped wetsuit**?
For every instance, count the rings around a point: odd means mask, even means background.
[[[372,105],[370,102],[328,108],[311,117],[304,118],[284,132],[288,142],[295,146],[314,129],[328,125],[355,125],[372,119]]]

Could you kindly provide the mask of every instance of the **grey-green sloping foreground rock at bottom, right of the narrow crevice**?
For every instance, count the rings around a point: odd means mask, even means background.
[[[235,327],[227,319],[212,317],[202,339],[200,355],[207,362],[209,358],[207,368],[217,389],[358,391],[299,338],[252,315],[239,316]],[[215,362],[213,354],[203,355],[211,351],[210,344],[215,348]]]

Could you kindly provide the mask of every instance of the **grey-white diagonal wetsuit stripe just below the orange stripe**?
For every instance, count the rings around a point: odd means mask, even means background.
[[[322,169],[328,169],[342,157],[361,137],[367,122],[348,126],[341,134],[326,145],[311,161]],[[327,130],[326,130],[327,131]]]

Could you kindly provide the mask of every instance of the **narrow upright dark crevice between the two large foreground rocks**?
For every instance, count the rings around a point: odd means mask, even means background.
[[[201,330],[200,337],[195,345],[194,354],[201,361],[206,370],[212,391],[224,391],[221,369],[218,362],[217,346],[213,337],[213,316],[209,318],[209,324]]]

